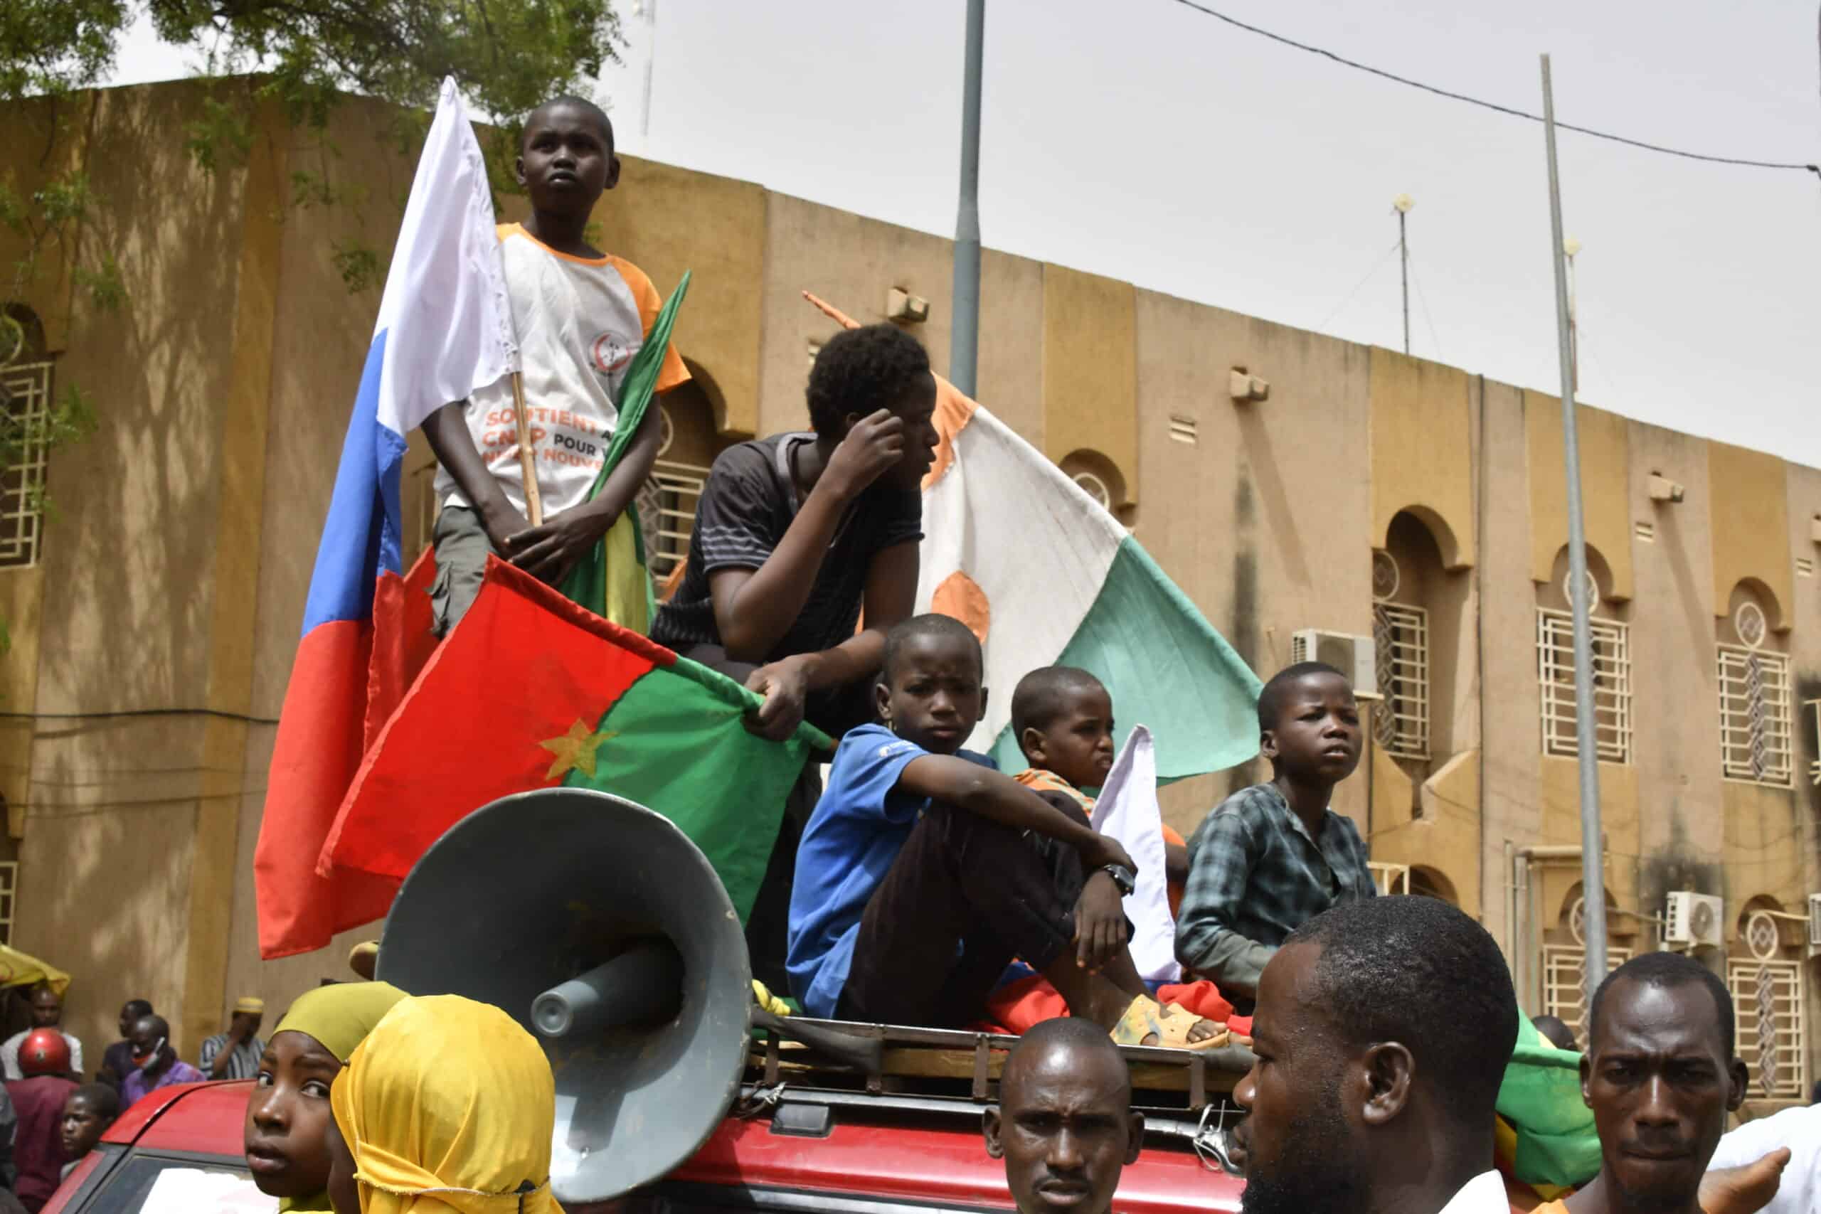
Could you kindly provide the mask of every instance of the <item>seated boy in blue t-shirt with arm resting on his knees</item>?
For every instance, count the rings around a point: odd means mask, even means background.
[[[1222,1041],[1138,977],[1125,848],[1065,797],[961,752],[980,683],[980,641],[960,621],[916,615],[887,633],[885,724],[841,739],[798,848],[790,992],[810,1016],[961,1027],[1020,957],[1114,1041]]]

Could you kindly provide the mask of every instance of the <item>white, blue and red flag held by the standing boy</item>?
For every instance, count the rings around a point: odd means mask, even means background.
[[[402,692],[379,659],[386,650],[397,657],[401,644],[428,644],[428,630],[382,637],[381,653],[373,642],[375,599],[393,615],[419,615],[406,601],[422,597],[404,595],[401,582],[406,435],[444,404],[517,369],[486,162],[455,82],[444,80],[361,371],[279,715],[253,855],[262,957],[322,948],[392,905],[395,883],[359,872],[322,875],[317,857],[375,733],[370,717],[384,721],[381,701]],[[428,624],[428,610],[421,619]]]

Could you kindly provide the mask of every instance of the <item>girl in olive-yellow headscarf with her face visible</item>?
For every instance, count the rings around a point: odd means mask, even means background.
[[[330,1085],[404,992],[333,983],[300,996],[259,1059],[246,1101],[246,1167],[280,1210],[330,1210]]]

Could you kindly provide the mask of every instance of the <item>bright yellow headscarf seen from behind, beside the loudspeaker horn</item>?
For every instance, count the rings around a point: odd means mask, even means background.
[[[550,1063],[492,1005],[401,1001],[348,1059],[330,1099],[353,1152],[361,1214],[563,1214],[550,1194]]]

